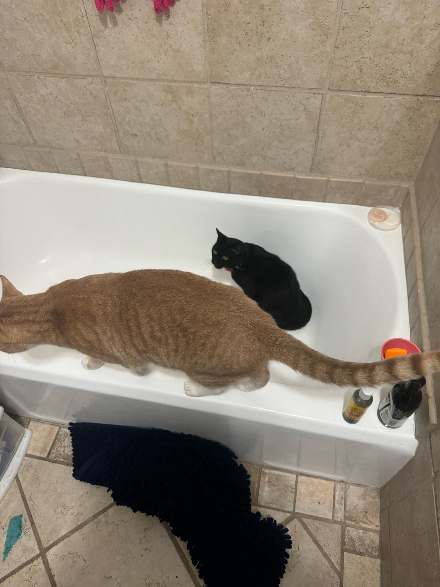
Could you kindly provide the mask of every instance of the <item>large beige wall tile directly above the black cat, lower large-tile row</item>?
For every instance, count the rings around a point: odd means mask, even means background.
[[[322,96],[292,90],[212,86],[216,161],[308,172]]]

